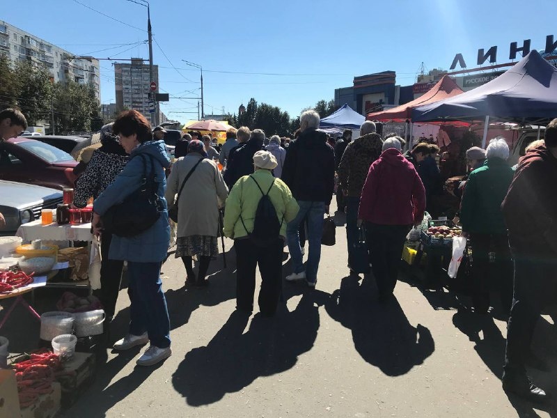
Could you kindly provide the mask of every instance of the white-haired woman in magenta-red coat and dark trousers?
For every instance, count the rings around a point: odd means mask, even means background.
[[[382,150],[363,185],[358,224],[366,228],[379,301],[384,302],[393,295],[406,235],[422,222],[425,189],[396,137],[386,139]]]

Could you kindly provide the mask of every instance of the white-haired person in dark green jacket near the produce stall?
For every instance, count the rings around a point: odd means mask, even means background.
[[[501,203],[514,171],[507,163],[509,148],[503,138],[489,141],[487,160],[472,171],[462,194],[462,235],[470,238],[473,256],[473,305],[478,314],[489,309],[489,283],[501,295],[503,314],[512,304],[512,258]]]

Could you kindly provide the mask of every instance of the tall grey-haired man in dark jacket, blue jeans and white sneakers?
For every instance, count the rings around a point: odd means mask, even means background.
[[[306,279],[311,287],[317,283],[323,215],[329,212],[335,175],[334,150],[327,144],[327,135],[317,131],[319,122],[316,111],[301,114],[301,134],[288,147],[281,177],[300,207],[296,219],[289,222],[286,229],[288,250],[294,265],[294,272],[286,280]],[[308,219],[309,255],[304,269],[298,230],[305,217]]]

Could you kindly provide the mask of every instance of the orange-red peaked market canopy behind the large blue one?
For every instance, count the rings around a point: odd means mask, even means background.
[[[366,119],[368,121],[405,122],[411,117],[411,112],[414,107],[438,102],[439,100],[451,98],[461,93],[464,93],[464,91],[462,91],[462,89],[457,86],[454,80],[448,77],[448,75],[444,75],[443,78],[440,79],[439,82],[437,82],[437,84],[435,84],[430,91],[420,96],[419,98],[414,99],[411,102],[402,104],[398,107],[393,107],[393,109],[370,113],[368,114],[368,117]]]

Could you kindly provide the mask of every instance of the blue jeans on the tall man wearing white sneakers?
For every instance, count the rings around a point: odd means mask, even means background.
[[[292,222],[286,226],[286,241],[288,251],[292,257],[294,272],[304,271],[304,263],[301,258],[299,241],[299,226],[304,217],[308,222],[308,262],[306,263],[306,280],[315,283],[317,281],[317,268],[321,258],[321,237],[323,235],[323,216],[325,214],[324,202],[298,201],[300,210]]]

